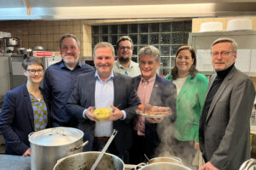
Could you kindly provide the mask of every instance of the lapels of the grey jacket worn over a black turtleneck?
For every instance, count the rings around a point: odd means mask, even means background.
[[[212,115],[212,110],[213,108],[215,107],[215,105],[217,104],[217,101],[219,99],[219,97],[221,96],[221,94],[224,93],[224,89],[227,88],[227,86],[229,85],[230,83],[230,80],[231,78],[233,77],[233,73],[234,71],[236,70],[236,68],[234,67],[230,73],[227,75],[227,77],[224,78],[224,81],[222,82],[222,84],[220,85],[220,87],[218,88],[218,91],[217,93],[215,94],[214,98],[212,99],[212,104],[210,105],[210,108],[209,108],[209,111],[208,111],[208,114],[207,114],[207,120],[208,118]],[[214,77],[214,79],[212,79],[212,82],[211,82],[211,87],[212,88],[212,83],[214,82],[216,77]],[[209,88],[209,89],[210,89]],[[209,91],[208,89],[208,91]],[[206,121],[207,122],[207,121]]]

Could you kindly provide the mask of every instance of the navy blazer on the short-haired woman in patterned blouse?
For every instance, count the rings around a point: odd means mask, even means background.
[[[44,96],[41,88],[40,90]],[[5,139],[5,153],[23,155],[30,147],[28,134],[34,131],[34,114],[25,82],[5,94],[3,101],[0,113],[0,132],[3,133]]]

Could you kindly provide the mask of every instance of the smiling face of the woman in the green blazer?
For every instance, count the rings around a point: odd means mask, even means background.
[[[175,59],[175,65],[179,73],[189,74],[189,69],[193,65],[194,59],[192,59],[191,53],[188,49],[181,50]]]

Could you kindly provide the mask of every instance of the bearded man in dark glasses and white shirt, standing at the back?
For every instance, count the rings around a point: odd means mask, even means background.
[[[118,60],[114,62],[113,71],[130,77],[137,77],[141,74],[139,66],[131,60],[133,52],[133,42],[131,37],[123,36],[119,38],[116,44],[116,53]]]

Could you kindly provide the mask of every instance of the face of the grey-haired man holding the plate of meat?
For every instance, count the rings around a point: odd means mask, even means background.
[[[139,57],[139,67],[144,80],[155,77],[159,66],[160,62],[157,62],[153,55],[142,54]]]

